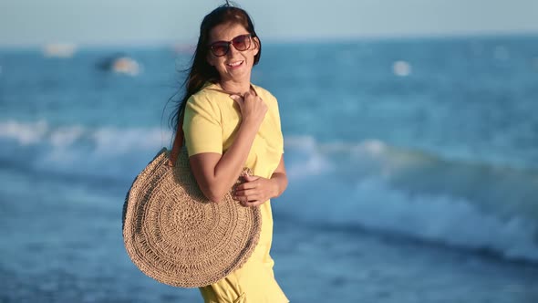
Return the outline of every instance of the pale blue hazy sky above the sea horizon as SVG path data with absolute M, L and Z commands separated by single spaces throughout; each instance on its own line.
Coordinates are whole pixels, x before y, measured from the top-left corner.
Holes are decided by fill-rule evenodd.
M 0 0 L 0 47 L 195 43 L 222 0 Z M 238 0 L 264 41 L 538 35 L 538 0 Z

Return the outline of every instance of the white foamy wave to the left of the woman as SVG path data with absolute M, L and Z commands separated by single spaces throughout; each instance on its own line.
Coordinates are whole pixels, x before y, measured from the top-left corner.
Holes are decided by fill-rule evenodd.
M 168 145 L 169 138 L 170 131 L 159 129 L 7 121 L 0 123 L 0 158 L 37 171 L 132 179 L 155 152 Z

